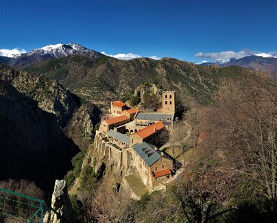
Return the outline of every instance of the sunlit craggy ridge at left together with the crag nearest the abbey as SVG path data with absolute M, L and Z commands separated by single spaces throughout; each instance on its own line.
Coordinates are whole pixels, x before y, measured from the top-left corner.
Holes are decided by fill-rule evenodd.
M 17 90 L 38 102 L 41 109 L 56 115 L 65 134 L 80 149 L 88 148 L 101 113 L 94 104 L 81 106 L 80 98 L 64 89 L 56 80 L 26 71 L 15 71 L 1 63 L 0 80 L 10 82 Z

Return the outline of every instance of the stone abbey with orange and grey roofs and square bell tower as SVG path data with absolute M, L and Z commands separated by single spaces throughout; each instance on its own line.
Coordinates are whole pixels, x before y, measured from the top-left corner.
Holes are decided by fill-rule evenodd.
M 153 191 L 176 172 L 174 160 L 160 148 L 169 140 L 175 115 L 175 91 L 162 92 L 162 108 L 143 113 L 124 102 L 111 102 L 95 136 L 97 152 L 116 159 L 126 172 L 136 169 L 145 187 Z

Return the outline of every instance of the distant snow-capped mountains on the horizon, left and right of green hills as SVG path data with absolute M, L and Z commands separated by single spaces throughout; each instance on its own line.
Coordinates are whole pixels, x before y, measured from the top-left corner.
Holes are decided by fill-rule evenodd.
M 36 64 L 43 60 L 53 58 L 64 58 L 67 56 L 82 55 L 88 58 L 101 58 L 105 57 L 104 54 L 98 51 L 88 49 L 82 45 L 75 43 L 56 45 L 47 45 L 38 49 L 33 49 L 25 54 L 14 55 L 12 57 L 0 56 L 0 62 L 8 64 L 12 67 L 21 68 L 24 66 Z M 263 56 L 245 56 L 242 58 L 230 58 L 228 60 L 214 60 L 210 62 L 203 62 L 200 65 L 219 65 L 220 67 L 228 67 L 231 65 L 246 67 L 263 71 L 269 76 L 276 78 L 277 76 L 277 58 L 268 58 Z

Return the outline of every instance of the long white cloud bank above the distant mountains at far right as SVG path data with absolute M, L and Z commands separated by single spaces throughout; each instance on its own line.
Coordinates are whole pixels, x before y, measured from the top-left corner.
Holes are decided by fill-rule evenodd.
M 263 56 L 263 57 L 275 57 L 277 58 L 277 51 L 272 52 L 261 52 L 261 51 L 253 51 L 250 49 L 242 49 L 241 51 L 235 52 L 235 51 L 220 51 L 220 52 L 209 52 L 209 53 L 202 53 L 199 52 L 195 54 L 194 56 L 200 57 L 200 58 L 210 58 L 210 59 L 230 59 L 230 58 L 241 58 L 244 56 Z

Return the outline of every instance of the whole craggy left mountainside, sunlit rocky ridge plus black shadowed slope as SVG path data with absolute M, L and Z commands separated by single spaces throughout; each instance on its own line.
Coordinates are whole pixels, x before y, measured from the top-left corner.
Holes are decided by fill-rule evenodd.
M 99 114 L 56 81 L 0 63 L 0 180 L 32 180 L 51 191 L 88 147 Z

